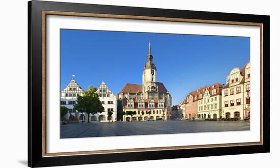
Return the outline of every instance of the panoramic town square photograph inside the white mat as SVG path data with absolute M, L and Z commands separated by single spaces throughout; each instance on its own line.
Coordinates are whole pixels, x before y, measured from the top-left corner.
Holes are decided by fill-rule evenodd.
M 60 30 L 60 138 L 250 130 L 250 38 Z

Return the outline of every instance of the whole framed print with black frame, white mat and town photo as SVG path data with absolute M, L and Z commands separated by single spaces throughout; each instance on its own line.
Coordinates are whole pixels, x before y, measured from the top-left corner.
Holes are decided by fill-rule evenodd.
M 30 167 L 269 152 L 269 16 L 28 7 Z

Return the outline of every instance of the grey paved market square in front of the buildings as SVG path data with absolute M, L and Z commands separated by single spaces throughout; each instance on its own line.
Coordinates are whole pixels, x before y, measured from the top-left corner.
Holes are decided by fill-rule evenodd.
M 61 125 L 61 138 L 151 135 L 172 133 L 247 131 L 244 121 L 142 121 L 142 122 L 91 122 Z

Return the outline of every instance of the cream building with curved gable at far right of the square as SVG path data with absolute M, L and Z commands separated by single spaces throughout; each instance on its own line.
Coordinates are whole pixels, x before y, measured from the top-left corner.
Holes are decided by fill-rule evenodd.
M 222 118 L 250 118 L 250 62 L 234 68 L 222 89 Z

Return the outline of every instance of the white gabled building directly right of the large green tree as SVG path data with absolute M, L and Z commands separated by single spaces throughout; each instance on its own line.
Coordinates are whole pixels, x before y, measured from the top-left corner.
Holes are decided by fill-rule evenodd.
M 104 111 L 102 113 L 97 113 L 94 115 L 90 115 L 91 122 L 109 122 L 117 120 L 117 97 L 113 92 L 109 90 L 109 88 L 105 85 L 105 82 L 102 81 L 101 85 L 97 88 L 96 91 L 99 94 L 99 100 L 102 102 L 104 107 Z M 112 112 L 111 119 L 108 117 L 108 112 Z M 86 116 L 87 118 L 87 116 Z

